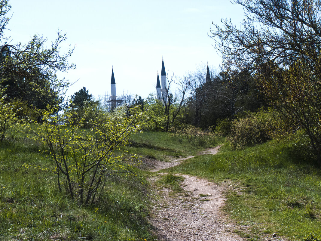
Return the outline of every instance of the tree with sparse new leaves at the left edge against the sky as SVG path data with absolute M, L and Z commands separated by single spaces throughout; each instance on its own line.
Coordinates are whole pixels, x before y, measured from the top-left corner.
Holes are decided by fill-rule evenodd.
M 56 104 L 60 91 L 69 85 L 56 74 L 75 67 L 67 61 L 74 49 L 60 51 L 66 33 L 59 30 L 49 48 L 47 38 L 42 35 L 34 35 L 26 44 L 12 44 L 4 33 L 11 18 L 10 9 L 7 0 L 0 0 L 0 79 L 2 88 L 6 87 L 6 101 L 20 100 L 44 109 L 48 104 Z

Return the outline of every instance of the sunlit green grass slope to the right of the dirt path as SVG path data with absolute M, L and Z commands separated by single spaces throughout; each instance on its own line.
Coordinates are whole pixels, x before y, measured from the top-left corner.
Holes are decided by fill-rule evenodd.
M 258 233 L 302 240 L 321 233 L 321 172 L 303 149 L 269 142 L 244 150 L 228 146 L 217 155 L 197 156 L 167 171 L 232 180 L 224 210 Z

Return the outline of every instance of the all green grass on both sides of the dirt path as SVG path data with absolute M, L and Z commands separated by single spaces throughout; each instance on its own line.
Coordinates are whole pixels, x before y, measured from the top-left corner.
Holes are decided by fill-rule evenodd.
M 212 143 L 177 138 L 169 133 L 146 132 L 130 137 L 124 151 L 140 159 L 167 161 L 196 155 Z M 81 206 L 59 192 L 56 176 L 45 168 L 54 165 L 39 154 L 36 143 L 21 134 L 0 144 L 0 240 L 154 240 L 148 223 L 153 194 L 139 168 L 136 175 L 108 179 L 100 202 Z M 229 183 L 224 211 L 247 231 L 235 233 L 248 240 L 263 235 L 313 240 L 321 233 L 321 171 L 302 147 L 290 142 L 270 141 L 243 150 L 224 144 L 217 155 L 185 160 L 166 170 L 159 182 L 180 190 L 172 174 L 182 173 Z M 24 165 L 27 164 L 27 165 Z M 28 165 L 37 166 L 28 167 Z M 310 236 L 312 237 L 312 236 Z M 317 239 L 316 239 L 317 240 Z

